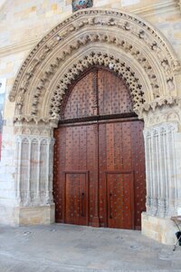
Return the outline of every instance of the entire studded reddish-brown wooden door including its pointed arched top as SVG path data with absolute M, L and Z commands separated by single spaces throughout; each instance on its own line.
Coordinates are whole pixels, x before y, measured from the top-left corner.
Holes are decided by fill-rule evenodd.
M 117 74 L 97 66 L 71 84 L 54 131 L 57 222 L 140 228 L 146 202 L 142 131 Z

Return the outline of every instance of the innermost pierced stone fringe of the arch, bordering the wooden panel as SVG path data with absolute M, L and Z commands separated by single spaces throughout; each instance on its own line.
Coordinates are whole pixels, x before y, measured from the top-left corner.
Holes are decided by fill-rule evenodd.
M 52 92 L 50 108 L 51 116 L 54 116 L 55 114 L 58 115 L 60 112 L 63 94 L 68 89 L 71 81 L 75 80 L 81 72 L 94 64 L 109 67 L 110 70 L 119 74 L 123 81 L 129 86 L 134 103 L 134 109 L 137 109 L 139 105 L 145 101 L 144 92 L 142 90 L 141 83 L 139 83 L 138 77 L 136 77 L 136 74 L 133 73 L 125 63 L 121 63 L 119 59 L 115 59 L 112 55 L 108 55 L 107 53 L 90 53 L 69 68 L 69 71 L 63 75 L 60 83 L 58 83 L 54 92 Z M 43 90 L 41 92 L 43 92 Z M 37 113 L 38 97 L 41 95 L 41 92 L 40 87 L 38 87 L 37 91 L 34 93 L 32 107 L 33 115 Z

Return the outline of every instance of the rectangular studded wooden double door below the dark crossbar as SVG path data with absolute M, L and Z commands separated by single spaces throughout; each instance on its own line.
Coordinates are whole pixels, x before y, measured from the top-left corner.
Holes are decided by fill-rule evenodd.
M 79 91 L 81 83 L 73 90 Z M 70 101 L 72 105 L 71 97 L 67 102 L 69 118 L 73 115 Z M 141 212 L 145 210 L 143 123 L 136 117 L 107 117 L 65 121 L 54 131 L 57 222 L 140 228 Z

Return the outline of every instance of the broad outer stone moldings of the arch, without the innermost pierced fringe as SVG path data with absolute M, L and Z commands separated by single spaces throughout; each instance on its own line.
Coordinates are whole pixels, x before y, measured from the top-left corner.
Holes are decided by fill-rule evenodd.
M 92 34 L 95 33 L 95 29 L 96 34 Z M 38 92 L 41 92 L 47 81 L 50 83 L 53 75 L 62 69 L 64 60 L 67 61 L 70 56 L 77 54 L 76 52 L 81 50 L 81 47 L 89 45 L 93 49 L 100 44 L 103 47 L 104 44 L 109 44 L 110 51 L 111 46 L 120 48 L 121 51 L 129 54 L 135 65 L 142 67 L 148 74 L 148 92 L 152 93 L 153 99 L 165 95 L 176 95 L 175 74 L 180 73 L 180 63 L 176 60 L 176 54 L 165 37 L 138 16 L 112 10 L 89 9 L 75 13 L 54 27 L 26 58 L 9 95 L 10 101 L 16 100 L 16 114 L 31 115 L 33 112 L 39 118 L 53 117 L 51 114 L 43 116 L 43 112 L 37 112 Z M 129 64 L 126 63 L 126 66 L 128 67 Z M 40 75 L 40 71 L 43 75 Z M 60 81 L 65 80 L 63 76 Z M 68 78 L 67 83 L 69 81 Z M 26 94 L 34 90 L 33 100 L 29 101 Z M 49 92 L 54 93 L 55 90 L 52 89 Z M 139 96 L 138 100 L 141 101 L 141 99 L 142 97 Z M 145 102 L 150 102 L 148 97 L 144 97 Z M 30 103 L 33 106 L 28 112 L 24 108 Z M 49 106 L 54 107 L 52 102 Z M 53 111 L 50 109 L 50 112 L 57 114 L 57 109 L 56 111 L 54 108 Z

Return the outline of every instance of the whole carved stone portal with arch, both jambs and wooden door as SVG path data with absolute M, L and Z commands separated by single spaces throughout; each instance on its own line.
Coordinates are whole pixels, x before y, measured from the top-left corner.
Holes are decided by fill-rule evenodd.
M 115 142 L 116 147 L 125 148 L 127 146 L 124 141 L 121 144 L 119 142 L 122 135 L 126 135 L 125 133 L 119 130 L 118 133 L 114 134 L 114 129 L 107 133 L 106 129 L 110 124 L 112 126 L 117 126 L 117 123 L 124 124 L 126 117 L 130 118 L 132 116 L 132 119 L 128 121 L 131 138 L 125 137 L 131 139 L 130 142 L 134 143 L 131 145 L 133 146 L 133 149 L 131 148 L 131 156 L 133 154 L 131 158 L 134 158 L 131 160 L 131 166 L 134 166 L 131 171 L 135 174 L 140 171 L 141 166 L 137 165 L 139 160 L 137 156 L 139 156 L 139 152 L 141 153 L 141 149 L 139 142 L 135 141 L 141 139 L 142 132 L 138 134 L 138 137 L 134 136 L 133 131 L 137 130 L 133 129 L 133 124 L 137 124 L 137 116 L 134 116 L 130 108 L 126 108 L 126 112 L 120 109 L 117 104 L 118 98 L 114 98 L 114 107 L 109 106 L 107 108 L 111 101 L 108 96 L 103 112 L 98 112 L 98 114 L 96 113 L 98 111 L 96 105 L 99 102 L 99 97 L 92 95 L 91 104 L 81 104 L 82 108 L 84 108 L 82 111 L 77 106 L 80 102 L 75 103 L 75 112 L 78 115 L 73 116 L 71 114 L 71 117 L 66 115 L 67 117 L 63 119 L 63 112 L 66 112 L 66 105 L 69 104 L 65 98 L 69 97 L 67 94 L 70 92 L 70 85 L 73 84 L 75 79 L 78 81 L 80 74 L 88 67 L 92 67 L 92 65 L 101 65 L 114 71 L 114 73 L 118 73 L 124 83 L 129 86 L 133 112 L 138 114 L 139 119 L 144 120 L 147 212 L 142 213 L 142 232 L 150 238 L 170 243 L 175 238 L 175 227 L 173 222 L 170 221 L 170 217 L 177 213 L 181 199 L 179 190 L 180 150 L 178 148 L 180 146 L 180 138 L 178 138 L 178 135 L 180 135 L 180 62 L 177 60 L 176 53 L 174 53 L 167 39 L 153 25 L 148 24 L 143 18 L 136 15 L 119 13 L 115 10 L 93 8 L 71 15 L 45 35 L 22 64 L 15 78 L 14 87 L 9 94 L 10 101 L 14 102 L 15 154 L 15 168 L 10 175 L 10 180 L 14 177 L 14 186 L 11 186 L 13 189 L 12 195 L 14 196 L 14 204 L 10 209 L 11 215 L 13 214 L 14 221 L 21 225 L 24 225 L 24 223 L 49 224 L 53 222 L 53 176 L 56 214 L 62 213 L 59 221 L 66 221 L 65 211 L 68 209 L 63 208 L 65 207 L 64 204 L 68 202 L 65 201 L 65 194 L 59 194 L 59 189 L 55 190 L 63 182 L 58 182 L 59 171 L 54 171 L 54 175 L 52 173 L 53 130 L 57 128 L 59 121 L 60 125 L 62 122 L 64 130 L 68 130 L 67 128 L 70 127 L 73 129 L 76 122 L 77 126 L 82 124 L 85 129 L 90 125 L 89 121 L 92 121 L 91 124 L 94 124 L 94 127 L 97 126 L 97 131 L 99 131 L 98 133 L 96 129 L 94 130 L 97 135 L 95 136 L 95 146 L 97 147 L 96 160 L 98 160 L 99 166 L 96 175 L 99 179 L 97 181 L 93 180 L 93 183 L 90 182 L 90 185 L 86 187 L 90 189 L 89 201 L 87 200 L 86 203 L 87 205 L 90 205 L 91 201 L 93 203 L 87 209 L 89 212 L 86 213 L 86 224 L 110 226 L 108 216 L 110 215 L 109 212 L 114 210 L 112 209 L 114 207 L 111 206 L 113 201 L 108 198 L 111 191 L 109 186 L 105 191 L 105 184 L 109 184 L 110 175 L 112 174 L 109 171 L 115 172 L 116 169 L 122 171 L 126 170 L 126 168 L 122 169 L 119 165 L 114 168 L 113 165 L 112 169 L 107 170 L 102 164 L 102 171 L 104 172 L 102 174 L 102 177 L 104 177 L 103 187 L 100 181 L 100 162 L 103 162 L 104 158 L 101 160 L 99 153 L 106 154 L 105 160 L 108 160 L 106 151 L 110 150 L 115 142 L 113 137 L 110 137 L 111 135 L 119 135 L 118 141 Z M 115 82 L 114 78 L 112 86 L 115 85 Z M 85 85 L 85 83 L 83 84 Z M 96 89 L 97 84 L 98 81 L 91 84 L 93 90 Z M 106 86 L 110 85 L 106 84 Z M 88 101 L 90 102 L 90 100 Z M 129 100 L 123 101 L 128 102 Z M 63 107 L 65 107 L 64 110 Z M 118 112 L 111 112 L 112 108 L 119 110 Z M 94 109 L 94 112 L 92 112 L 92 109 Z M 80 113 L 81 116 L 79 116 Z M 83 115 L 84 113 L 87 115 Z M 87 118 L 87 120 L 83 120 L 83 118 Z M 78 122 L 78 119 L 80 122 Z M 67 122 L 66 125 L 65 122 Z M 62 128 L 60 126 L 60 130 Z M 104 128 L 104 133 L 102 132 L 104 141 L 100 138 L 101 128 Z M 82 135 L 81 132 L 79 133 Z M 66 133 L 64 136 L 66 136 Z M 56 145 L 58 141 L 64 141 L 64 143 L 62 147 L 57 147 L 55 152 L 63 151 L 63 148 L 66 148 L 66 143 L 69 143 L 64 136 L 63 133 L 57 136 Z M 107 138 L 109 139 L 108 142 L 110 142 L 109 146 L 105 145 L 105 142 L 107 142 L 105 139 Z M 103 144 L 106 148 L 104 151 L 100 151 Z M 114 152 L 120 151 L 120 148 L 112 148 L 112 150 Z M 108 152 L 113 154 L 109 157 L 110 161 L 115 157 L 114 152 Z M 60 168 L 63 165 L 66 166 L 67 163 L 66 158 L 64 164 L 56 162 L 56 160 L 61 160 L 62 153 L 58 157 L 55 154 L 54 160 L 54 165 Z M 68 154 L 68 152 L 65 151 L 64 154 Z M 71 176 L 71 174 L 67 174 L 67 171 L 71 171 L 71 168 L 62 169 L 62 173 L 66 174 L 66 179 Z M 84 180 L 90 179 L 87 178 L 90 177 L 90 170 L 87 170 L 87 168 L 82 170 L 81 167 L 77 167 L 77 171 L 79 172 L 76 174 L 83 171 L 80 176 L 84 177 Z M 85 172 L 88 173 L 88 171 L 89 175 L 86 175 Z M 107 181 L 105 181 L 106 174 Z M 138 228 L 140 226 L 140 213 L 143 209 L 139 207 L 142 206 L 142 203 L 145 206 L 145 197 L 142 198 L 140 194 L 140 177 L 137 178 L 135 175 L 133 177 L 134 188 L 132 187 L 132 191 L 134 193 L 131 195 L 134 198 L 129 199 L 129 203 L 132 203 L 131 211 L 134 210 L 134 214 L 129 213 L 131 219 L 129 220 L 129 227 L 126 226 L 127 228 L 130 228 L 130 226 L 131 228 Z M 71 178 L 69 179 L 71 180 Z M 85 181 L 85 184 L 88 184 L 88 181 Z M 67 187 L 69 188 L 66 185 Z M 84 191 L 82 192 L 84 193 Z M 60 202 L 57 202 L 59 199 Z M 85 195 L 83 195 L 83 199 L 85 199 Z M 112 199 L 112 196 L 110 196 L 110 199 Z M 141 203 L 139 200 L 141 200 Z M 123 200 L 121 201 L 120 203 L 124 204 Z M 125 207 L 125 205 L 123 206 Z M 5 220 L 12 224 L 11 217 L 6 218 L 5 213 Z M 85 222 L 81 224 L 85 224 Z M 115 226 L 115 224 L 113 227 L 118 226 Z M 121 227 L 121 224 L 118 227 Z M 160 228 L 157 228 L 157 226 Z M 126 227 L 123 226 L 123 228 Z

